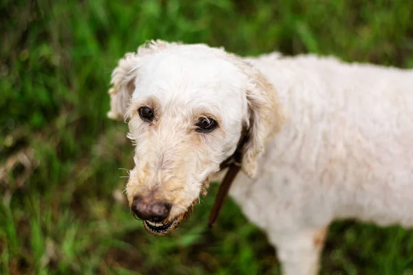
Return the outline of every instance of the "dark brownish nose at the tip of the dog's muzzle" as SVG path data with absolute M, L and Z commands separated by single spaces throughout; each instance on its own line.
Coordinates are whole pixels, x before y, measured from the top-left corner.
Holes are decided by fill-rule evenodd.
M 171 204 L 136 196 L 134 197 L 131 210 L 134 211 L 139 219 L 160 222 L 167 219 L 169 211 L 171 211 Z

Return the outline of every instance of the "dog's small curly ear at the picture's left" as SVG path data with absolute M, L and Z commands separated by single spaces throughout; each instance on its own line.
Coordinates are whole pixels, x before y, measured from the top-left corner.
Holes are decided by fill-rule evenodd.
M 138 68 L 142 56 L 153 54 L 164 50 L 171 45 L 180 43 L 167 43 L 165 41 L 150 41 L 138 48 L 138 51 L 125 54 L 118 62 L 118 67 L 112 72 L 111 84 L 109 89 L 110 110 L 108 118 L 113 120 L 123 120 L 127 107 L 129 107 L 131 96 L 135 91 L 135 81 L 138 76 Z

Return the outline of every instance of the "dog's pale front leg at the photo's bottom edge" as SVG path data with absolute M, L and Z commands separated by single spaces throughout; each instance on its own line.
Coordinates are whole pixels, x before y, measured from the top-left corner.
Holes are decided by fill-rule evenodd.
M 315 275 L 328 226 L 297 232 L 269 232 L 284 275 Z

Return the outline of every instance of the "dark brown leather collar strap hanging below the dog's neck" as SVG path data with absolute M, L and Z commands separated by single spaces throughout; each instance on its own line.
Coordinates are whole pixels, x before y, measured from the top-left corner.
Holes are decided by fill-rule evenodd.
M 248 134 L 246 129 L 242 130 L 240 141 L 238 142 L 237 148 L 231 157 L 227 158 L 220 164 L 220 170 L 228 168 L 225 177 L 220 184 L 218 193 L 215 197 L 211 212 L 209 213 L 208 226 L 211 228 L 215 222 L 218 220 L 222 206 L 224 206 L 224 201 L 228 195 L 229 188 L 233 183 L 235 176 L 241 169 L 242 153 L 244 151 L 244 145 L 248 141 Z

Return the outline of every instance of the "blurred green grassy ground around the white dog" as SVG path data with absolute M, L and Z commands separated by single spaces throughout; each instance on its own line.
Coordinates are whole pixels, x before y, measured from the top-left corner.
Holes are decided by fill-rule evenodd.
M 158 238 L 131 217 L 127 127 L 105 118 L 118 58 L 148 39 L 413 67 L 413 1 L 1 0 L 0 274 L 278 274 L 232 201 Z M 323 274 L 413 274 L 413 233 L 335 223 Z

